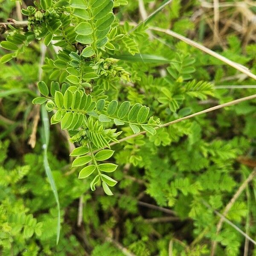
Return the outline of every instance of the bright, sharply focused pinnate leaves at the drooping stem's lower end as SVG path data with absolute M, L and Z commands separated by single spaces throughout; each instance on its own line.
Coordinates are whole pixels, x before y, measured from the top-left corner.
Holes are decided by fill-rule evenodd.
M 52 82 L 49 91 L 45 82 L 40 81 L 38 89 L 43 96 L 35 98 L 33 103 L 44 104 L 47 102 L 47 111 L 55 111 L 51 123 L 61 122 L 61 129 L 67 129 L 73 135 L 71 141 L 82 145 L 74 149 L 71 154 L 78 157 L 72 166 L 78 167 L 93 163 L 81 169 L 79 178 L 86 178 L 97 170 L 98 175 L 93 179 L 91 189 L 95 190 L 96 184 L 101 180 L 105 193 L 113 195 L 108 186 L 114 186 L 117 182 L 102 172 L 113 172 L 117 165 L 113 163 L 98 164 L 98 161 L 110 158 L 113 151 L 103 149 L 96 154 L 93 151 L 105 147 L 110 148 L 111 141 L 118 143 L 116 137 L 121 132 L 115 133 L 116 129 L 106 129 L 104 124 L 109 122 L 114 122 L 115 125 L 128 124 L 134 134 L 139 133 L 142 128 L 154 135 L 156 133 L 154 127 L 159 124 L 160 120 L 155 121 L 152 116 L 148 119 L 149 108 L 139 103 L 131 107 L 131 103 L 128 101 L 122 102 L 120 105 L 116 100 L 106 102 L 105 99 L 99 99 L 95 102 L 90 94 L 87 95 L 84 90 L 79 89 L 79 85 L 62 84 L 60 89 L 58 82 Z M 85 155 L 87 153 L 90 154 Z

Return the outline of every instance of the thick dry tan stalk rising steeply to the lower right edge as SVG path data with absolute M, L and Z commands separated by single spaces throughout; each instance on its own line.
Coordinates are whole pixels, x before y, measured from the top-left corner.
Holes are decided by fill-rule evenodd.
M 227 204 L 227 206 L 224 209 L 224 212 L 221 216 L 220 221 L 217 224 L 217 231 L 216 231 L 216 236 L 218 236 L 218 233 L 221 230 L 221 227 L 223 225 L 224 222 L 224 218 L 226 217 L 227 213 L 229 212 L 229 210 L 231 209 L 231 207 L 233 206 L 233 204 L 235 203 L 235 201 L 237 200 L 237 198 L 239 198 L 239 196 L 241 195 L 241 193 L 244 191 L 244 189 L 246 188 L 247 184 L 250 183 L 251 180 L 253 180 L 253 178 L 256 176 L 256 168 L 253 169 L 253 172 L 250 173 L 250 175 L 247 177 L 246 180 L 244 180 L 244 182 L 241 184 L 241 186 L 239 187 L 239 189 L 237 190 L 237 192 L 233 195 L 233 198 L 231 198 L 231 200 L 229 201 L 229 203 Z M 244 233 L 245 234 L 245 233 Z M 247 234 L 245 234 L 246 237 L 248 238 L 249 236 L 247 236 Z M 249 238 L 248 238 L 249 239 Z M 251 241 L 251 239 L 249 239 Z M 253 240 L 253 243 L 256 244 L 256 242 Z M 213 241 L 212 242 L 212 248 L 211 248 L 211 256 L 214 256 L 215 254 L 215 249 L 217 246 L 217 241 Z

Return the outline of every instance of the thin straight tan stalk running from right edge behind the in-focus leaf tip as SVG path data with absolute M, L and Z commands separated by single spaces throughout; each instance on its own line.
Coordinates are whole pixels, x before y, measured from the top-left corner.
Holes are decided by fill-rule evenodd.
M 226 103 L 223 103 L 223 104 L 221 104 L 221 105 L 214 106 L 214 107 L 212 107 L 212 108 L 207 108 L 207 109 L 205 109 L 205 110 L 203 110 L 203 111 L 199 111 L 199 112 L 194 113 L 194 114 L 189 115 L 189 116 L 184 116 L 184 117 L 179 118 L 179 119 L 176 119 L 176 120 L 174 120 L 174 121 L 167 122 L 167 123 L 165 123 L 165 124 L 163 124 L 163 125 L 159 125 L 158 127 L 156 127 L 156 129 L 163 128 L 163 127 L 166 127 L 166 126 L 169 126 L 169 125 L 173 125 L 173 124 L 175 124 L 175 123 L 177 123 L 177 122 L 181 122 L 181 121 L 183 121 L 183 120 L 192 118 L 192 117 L 194 117 L 194 116 L 199 116 L 199 115 L 201 115 L 201 114 L 204 114 L 204 113 L 207 113 L 207 112 L 211 112 L 211 111 L 214 111 L 214 110 L 217 110 L 217 109 L 220 109 L 220 108 L 225 108 L 225 107 L 228 107 L 228 106 L 231 106 L 231 105 L 236 105 L 236 104 L 238 104 L 238 103 L 240 103 L 240 102 L 244 102 L 244 101 L 247 101 L 247 100 L 250 100 L 250 99 L 256 99 L 256 94 L 253 94 L 253 95 L 250 95 L 250 96 L 241 98 L 241 99 L 236 99 L 236 100 L 233 100 L 233 101 L 230 101 L 230 102 L 226 102 Z M 128 137 L 125 137 L 125 138 L 120 139 L 120 140 L 118 141 L 118 143 L 123 142 L 123 141 L 125 141 L 125 140 L 133 139 L 134 137 L 137 137 L 137 136 L 139 136 L 139 135 L 141 135 L 141 134 L 145 134 L 145 133 L 146 133 L 146 131 L 141 131 L 141 132 L 139 132 L 139 133 L 137 133 L 137 134 L 132 134 L 132 135 L 130 135 L 130 136 L 128 136 Z M 117 142 L 112 142 L 112 143 L 110 143 L 109 145 L 110 145 L 110 146 L 111 146 L 111 145 L 115 145 L 116 143 L 117 143 Z

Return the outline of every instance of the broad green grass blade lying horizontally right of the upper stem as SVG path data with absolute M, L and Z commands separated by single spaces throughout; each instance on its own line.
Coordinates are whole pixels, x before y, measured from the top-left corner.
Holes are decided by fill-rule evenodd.
M 122 54 L 122 55 L 111 55 L 112 58 L 116 58 L 123 61 L 132 61 L 132 62 L 145 62 L 145 63 L 170 63 L 174 60 L 166 59 L 162 56 L 149 55 L 149 54 Z M 177 61 L 176 61 L 177 62 Z

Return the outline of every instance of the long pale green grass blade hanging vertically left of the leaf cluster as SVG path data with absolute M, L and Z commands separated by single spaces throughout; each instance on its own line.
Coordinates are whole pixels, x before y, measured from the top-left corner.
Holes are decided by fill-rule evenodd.
M 56 238 L 56 244 L 58 244 L 58 241 L 60 239 L 60 232 L 61 232 L 61 210 L 60 210 L 60 202 L 58 199 L 57 187 L 56 187 L 54 178 L 52 176 L 52 170 L 49 166 L 49 162 L 47 158 L 47 147 L 49 144 L 50 133 L 49 133 L 49 118 L 48 118 L 47 111 L 45 110 L 45 105 L 41 106 L 41 117 L 43 122 L 42 140 L 43 140 L 43 150 L 44 150 L 44 169 L 49 179 L 49 183 L 50 183 L 50 186 L 57 204 L 57 210 L 58 210 L 57 238 Z

